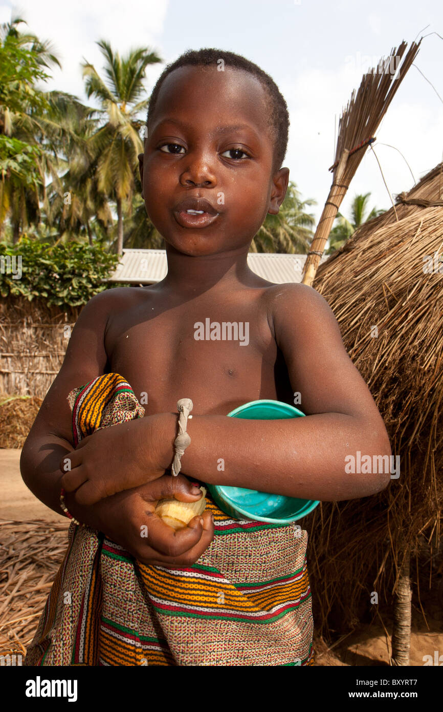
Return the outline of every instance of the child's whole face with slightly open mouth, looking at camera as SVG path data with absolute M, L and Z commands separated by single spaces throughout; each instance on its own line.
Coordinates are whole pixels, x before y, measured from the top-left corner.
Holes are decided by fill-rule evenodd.
M 266 107 L 260 82 L 229 66 L 185 66 L 164 80 L 139 164 L 146 211 L 179 252 L 247 247 L 267 213 L 278 213 L 289 170 L 272 174 Z M 188 199 L 210 205 L 181 205 Z

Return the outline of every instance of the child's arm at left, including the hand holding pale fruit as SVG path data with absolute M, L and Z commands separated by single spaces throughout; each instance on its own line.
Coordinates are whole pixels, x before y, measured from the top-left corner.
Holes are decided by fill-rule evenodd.
M 60 516 L 63 478 L 60 460 L 74 451 L 68 393 L 105 372 L 105 330 L 108 314 L 116 308 L 116 296 L 102 292 L 83 308 L 60 372 L 41 404 L 21 452 L 23 481 L 38 499 Z M 112 444 L 107 451 L 108 463 L 110 456 L 114 456 Z M 80 522 L 104 531 L 142 562 L 161 562 L 161 565 L 194 563 L 213 538 L 210 511 L 203 515 L 203 525 L 199 518 L 193 518 L 188 527 L 175 532 L 154 515 L 156 501 L 163 497 L 190 502 L 198 500 L 201 493 L 192 493 L 191 483 L 184 477 L 166 476 L 136 490 L 102 499 L 92 506 L 78 503 L 75 496 L 68 493 L 66 504 Z M 141 538 L 142 525 L 149 529 L 149 540 Z

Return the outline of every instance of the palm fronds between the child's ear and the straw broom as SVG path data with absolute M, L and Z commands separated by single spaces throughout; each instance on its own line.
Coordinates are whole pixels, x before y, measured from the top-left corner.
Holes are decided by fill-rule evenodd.
M 282 252 L 305 254 L 309 251 L 315 218 L 306 207 L 316 201 L 302 201 L 297 185 L 289 181 L 287 193 L 277 215 L 268 214 L 252 240 L 251 252 Z

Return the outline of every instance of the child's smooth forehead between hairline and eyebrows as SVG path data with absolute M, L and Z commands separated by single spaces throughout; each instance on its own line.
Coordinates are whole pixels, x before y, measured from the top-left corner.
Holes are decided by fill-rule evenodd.
M 213 125 L 242 124 L 261 138 L 272 140 L 269 130 L 269 97 L 255 76 L 226 66 L 184 66 L 164 80 L 156 100 L 150 128 L 168 119 Z

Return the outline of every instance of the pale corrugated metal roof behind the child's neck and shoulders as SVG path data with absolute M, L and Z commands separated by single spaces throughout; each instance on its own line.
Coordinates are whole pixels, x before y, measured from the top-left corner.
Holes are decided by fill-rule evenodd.
M 323 256 L 321 262 L 327 257 Z M 284 255 L 269 252 L 250 252 L 247 264 L 259 277 L 275 284 L 301 282 L 306 255 Z M 154 284 L 168 271 L 165 250 L 123 250 L 122 259 L 110 276 L 110 282 Z

